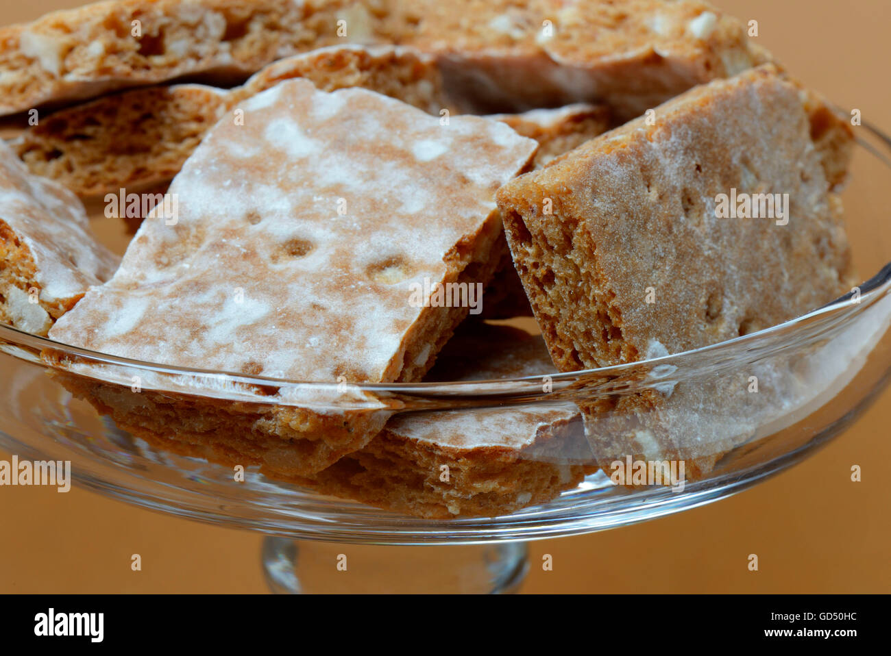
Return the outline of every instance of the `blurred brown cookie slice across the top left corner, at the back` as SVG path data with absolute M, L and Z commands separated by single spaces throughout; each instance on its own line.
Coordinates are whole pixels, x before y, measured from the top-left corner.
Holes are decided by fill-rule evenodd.
M 185 76 L 231 83 L 323 45 L 388 42 L 389 4 L 114 0 L 49 13 L 0 29 L 0 115 Z

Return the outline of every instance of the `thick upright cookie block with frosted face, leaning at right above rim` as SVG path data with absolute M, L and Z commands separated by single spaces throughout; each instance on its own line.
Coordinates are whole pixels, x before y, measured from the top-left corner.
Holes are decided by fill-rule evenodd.
M 505 185 L 507 239 L 555 365 L 715 344 L 850 289 L 836 191 L 851 142 L 842 117 L 767 65 Z M 620 402 L 649 413 L 664 397 Z

